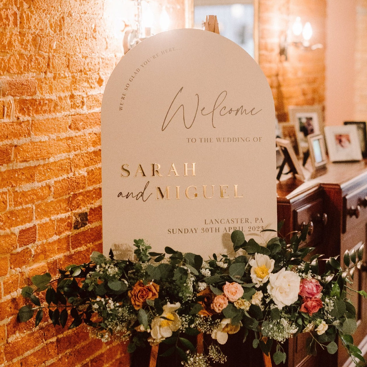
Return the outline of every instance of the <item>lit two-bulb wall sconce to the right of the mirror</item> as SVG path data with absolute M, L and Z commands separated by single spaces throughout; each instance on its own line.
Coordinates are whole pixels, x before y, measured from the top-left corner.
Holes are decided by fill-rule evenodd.
M 302 26 L 301 18 L 297 17 L 292 25 L 291 29 L 287 30 L 284 37 L 280 39 L 279 54 L 285 56 L 288 60 L 288 47 L 295 46 L 304 50 L 316 50 L 317 48 L 323 48 L 321 43 L 311 45 L 310 39 L 312 37 L 312 26 L 310 22 L 306 22 Z

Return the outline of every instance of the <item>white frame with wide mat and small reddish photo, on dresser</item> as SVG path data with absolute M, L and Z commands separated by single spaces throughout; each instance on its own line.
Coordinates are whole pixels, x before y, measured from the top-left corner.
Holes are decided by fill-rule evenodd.
M 325 138 L 329 158 L 332 162 L 360 161 L 362 159 L 355 124 L 326 126 Z

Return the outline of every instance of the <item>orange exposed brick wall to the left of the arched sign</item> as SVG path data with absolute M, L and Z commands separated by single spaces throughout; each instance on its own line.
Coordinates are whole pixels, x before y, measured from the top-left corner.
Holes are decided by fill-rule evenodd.
M 183 0 L 150 3 L 184 27 Z M 0 366 L 128 365 L 126 346 L 86 327 L 34 328 L 16 314 L 31 276 L 102 251 L 100 107 L 131 6 L 0 0 Z

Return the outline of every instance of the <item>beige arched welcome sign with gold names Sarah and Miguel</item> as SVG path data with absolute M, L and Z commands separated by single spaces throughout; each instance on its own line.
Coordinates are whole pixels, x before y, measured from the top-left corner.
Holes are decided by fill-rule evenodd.
M 143 238 L 208 257 L 276 229 L 275 110 L 257 63 L 212 32 L 159 33 L 102 101 L 103 249 Z M 271 235 L 273 236 L 273 235 Z

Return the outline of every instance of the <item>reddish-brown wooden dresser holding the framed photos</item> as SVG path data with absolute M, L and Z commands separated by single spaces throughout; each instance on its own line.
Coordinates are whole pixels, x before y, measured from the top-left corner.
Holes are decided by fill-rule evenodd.
M 309 224 L 308 242 L 327 257 L 343 255 L 358 248 L 367 238 L 367 160 L 356 163 L 330 163 L 318 177 L 300 182 L 288 178 L 277 185 L 278 221 L 285 219 L 283 233 L 300 230 Z M 356 270 L 354 286 L 367 289 L 366 258 Z M 355 344 L 367 355 L 367 300 L 354 297 L 358 316 Z M 352 367 L 344 347 L 335 355 L 306 352 L 306 335 L 291 339 L 288 367 Z

